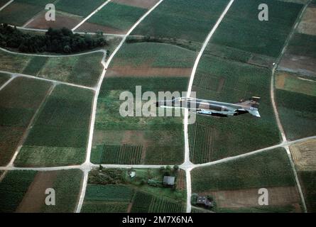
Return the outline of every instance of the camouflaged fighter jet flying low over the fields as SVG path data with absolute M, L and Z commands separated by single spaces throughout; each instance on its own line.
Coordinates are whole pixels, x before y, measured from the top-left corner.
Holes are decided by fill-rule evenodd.
M 207 116 L 228 117 L 249 113 L 260 118 L 258 111 L 258 101 L 260 99 L 261 98 L 254 96 L 251 99 L 240 100 L 235 104 L 229 104 L 225 102 L 204 99 L 177 98 L 169 101 L 158 101 L 156 106 L 162 108 L 187 108 L 191 112 Z

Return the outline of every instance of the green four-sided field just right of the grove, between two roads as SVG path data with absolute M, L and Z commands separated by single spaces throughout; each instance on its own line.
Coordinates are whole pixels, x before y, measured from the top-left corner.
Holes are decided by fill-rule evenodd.
M 104 33 L 124 34 L 141 18 L 147 9 L 109 2 L 84 23 L 78 31 L 99 28 Z

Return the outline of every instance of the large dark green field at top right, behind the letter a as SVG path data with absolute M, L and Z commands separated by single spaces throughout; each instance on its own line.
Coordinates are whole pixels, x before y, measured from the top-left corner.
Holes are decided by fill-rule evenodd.
M 278 57 L 303 5 L 267 0 L 264 3 L 271 6 L 268 21 L 259 21 L 258 6 L 261 3 L 261 0 L 234 1 L 211 42 Z

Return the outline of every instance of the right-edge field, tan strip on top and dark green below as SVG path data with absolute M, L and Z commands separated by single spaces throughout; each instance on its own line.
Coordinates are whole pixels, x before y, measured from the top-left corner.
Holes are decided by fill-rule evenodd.
M 289 76 L 282 79 L 283 74 Z M 289 140 L 315 135 L 315 89 L 316 82 L 310 77 L 282 72 L 276 75 L 276 104 Z

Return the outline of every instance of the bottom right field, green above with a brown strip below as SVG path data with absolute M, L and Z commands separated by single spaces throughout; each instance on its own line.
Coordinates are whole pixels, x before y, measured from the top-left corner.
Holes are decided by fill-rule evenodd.
M 301 211 L 295 177 L 283 148 L 198 167 L 191 173 L 192 192 L 213 196 L 215 211 Z M 261 188 L 268 189 L 271 198 L 264 208 L 258 206 Z

